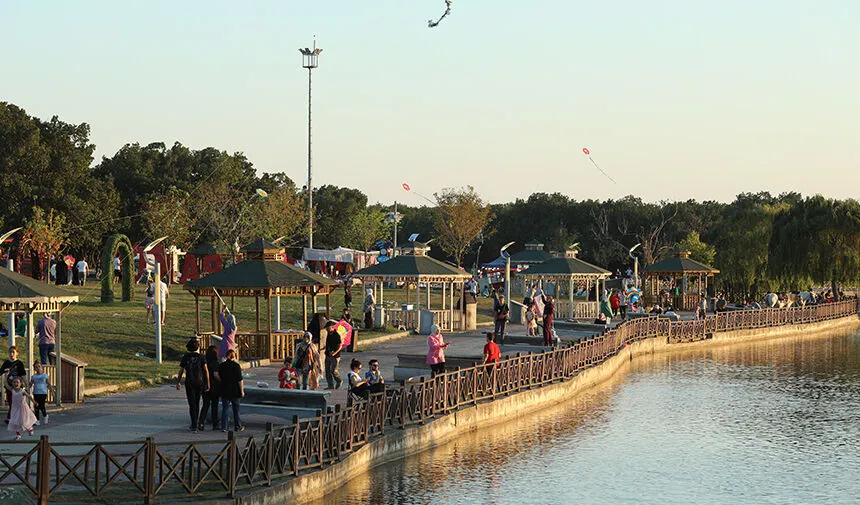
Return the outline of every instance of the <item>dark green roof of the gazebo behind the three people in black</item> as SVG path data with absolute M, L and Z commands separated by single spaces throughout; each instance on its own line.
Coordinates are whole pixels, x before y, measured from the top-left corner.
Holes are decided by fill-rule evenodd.
M 329 278 L 283 261 L 246 260 L 185 284 L 198 295 L 217 289 L 227 296 L 255 296 L 271 290 L 273 295 L 326 294 L 337 283 Z

